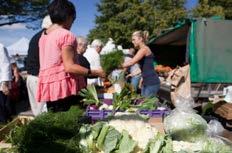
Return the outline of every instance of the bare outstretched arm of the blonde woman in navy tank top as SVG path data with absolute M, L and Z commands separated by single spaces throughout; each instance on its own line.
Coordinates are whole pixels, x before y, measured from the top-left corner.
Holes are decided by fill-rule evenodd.
M 135 63 L 138 63 L 138 61 L 140 61 L 145 55 L 146 55 L 146 50 L 140 49 L 131 60 L 123 63 L 122 67 L 127 68 L 131 65 L 134 65 Z

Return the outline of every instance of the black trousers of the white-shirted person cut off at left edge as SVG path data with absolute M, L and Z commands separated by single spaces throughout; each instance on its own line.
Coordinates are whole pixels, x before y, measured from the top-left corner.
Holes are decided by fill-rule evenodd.
M 9 96 L 0 91 L 0 122 L 6 122 L 10 118 L 10 112 Z

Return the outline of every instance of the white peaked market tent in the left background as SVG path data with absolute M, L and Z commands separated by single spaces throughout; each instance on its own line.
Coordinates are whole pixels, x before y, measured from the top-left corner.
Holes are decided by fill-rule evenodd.
M 8 53 L 10 56 L 13 55 L 27 55 L 27 50 L 29 46 L 29 40 L 25 37 L 22 37 L 14 44 L 7 47 Z

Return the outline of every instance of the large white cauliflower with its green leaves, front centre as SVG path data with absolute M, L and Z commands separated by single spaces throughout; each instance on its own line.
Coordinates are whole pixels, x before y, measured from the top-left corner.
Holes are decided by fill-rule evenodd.
M 80 148 L 84 153 L 172 152 L 170 137 L 157 132 L 135 114 L 120 114 L 108 122 L 83 125 Z

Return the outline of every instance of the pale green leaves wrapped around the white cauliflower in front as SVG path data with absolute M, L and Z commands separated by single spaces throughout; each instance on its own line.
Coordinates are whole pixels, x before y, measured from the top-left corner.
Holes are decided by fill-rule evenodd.
M 127 131 L 118 132 L 104 122 L 95 125 L 83 125 L 80 128 L 80 148 L 83 153 L 131 153 L 136 142 L 131 139 Z

